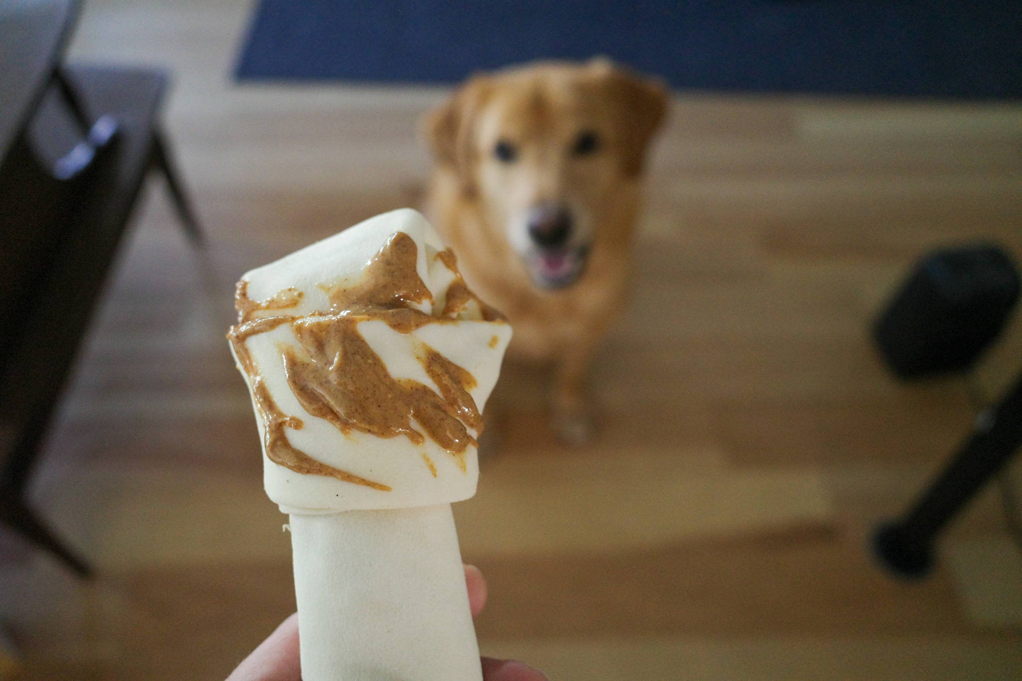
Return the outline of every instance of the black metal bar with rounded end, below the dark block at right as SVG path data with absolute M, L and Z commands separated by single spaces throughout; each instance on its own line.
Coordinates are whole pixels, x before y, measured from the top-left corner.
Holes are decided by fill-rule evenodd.
M 936 480 L 901 518 L 881 525 L 873 550 L 900 577 L 920 578 L 933 568 L 936 536 L 1000 472 L 1022 444 L 1022 375 L 1001 402 L 976 418 L 972 434 Z

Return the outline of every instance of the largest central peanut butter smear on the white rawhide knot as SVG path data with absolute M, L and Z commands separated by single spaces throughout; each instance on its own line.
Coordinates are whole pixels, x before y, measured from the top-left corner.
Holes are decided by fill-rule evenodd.
M 454 321 L 409 307 L 432 300 L 416 271 L 417 258 L 415 241 L 398 232 L 370 260 L 358 284 L 327 289 L 330 313 L 291 326 L 304 352 L 285 348 L 284 371 L 301 406 L 342 433 L 354 429 L 377 437 L 404 435 L 422 444 L 425 438 L 413 428 L 414 419 L 436 444 L 460 456 L 476 445 L 466 426 L 482 429 L 482 418 L 468 394 L 475 387 L 472 375 L 423 346 L 419 361 L 440 394 L 418 381 L 396 380 L 357 328 L 359 322 L 380 320 L 407 334 L 426 324 Z

